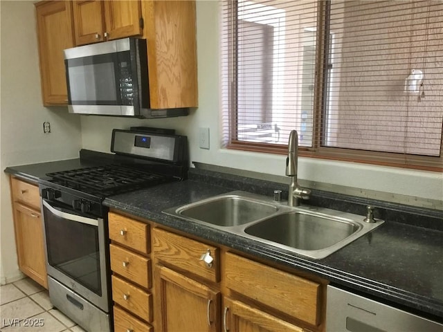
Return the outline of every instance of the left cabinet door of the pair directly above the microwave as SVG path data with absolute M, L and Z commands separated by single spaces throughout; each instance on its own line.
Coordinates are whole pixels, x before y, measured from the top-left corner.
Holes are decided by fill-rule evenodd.
M 75 44 L 102 42 L 105 32 L 103 1 L 73 1 Z

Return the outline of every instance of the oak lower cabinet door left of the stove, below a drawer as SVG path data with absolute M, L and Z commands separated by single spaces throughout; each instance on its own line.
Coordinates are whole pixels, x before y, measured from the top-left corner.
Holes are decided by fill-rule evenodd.
M 19 268 L 35 282 L 48 288 L 40 212 L 14 203 L 14 214 Z

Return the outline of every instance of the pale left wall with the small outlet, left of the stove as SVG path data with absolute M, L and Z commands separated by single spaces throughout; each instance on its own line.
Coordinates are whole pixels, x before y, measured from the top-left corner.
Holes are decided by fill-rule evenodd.
M 1 170 L 8 166 L 77 158 L 80 117 L 64 108 L 42 106 L 35 1 L 0 1 Z M 43 133 L 43 122 L 51 133 Z M 1 284 L 20 277 L 8 176 L 1 172 Z

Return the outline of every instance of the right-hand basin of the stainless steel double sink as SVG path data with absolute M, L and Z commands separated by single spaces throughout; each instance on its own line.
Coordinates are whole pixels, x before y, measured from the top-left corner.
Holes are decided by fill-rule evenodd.
M 320 250 L 350 237 L 360 225 L 305 212 L 287 212 L 247 227 L 254 237 L 301 250 Z

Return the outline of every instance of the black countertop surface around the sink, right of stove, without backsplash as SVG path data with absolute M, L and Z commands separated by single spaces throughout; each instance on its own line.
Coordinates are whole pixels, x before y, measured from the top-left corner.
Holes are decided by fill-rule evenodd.
M 373 232 L 329 257 L 314 260 L 162 213 L 174 206 L 243 190 L 210 183 L 191 179 L 159 185 L 109 197 L 105 205 L 256 257 L 314 273 L 333 284 L 443 322 L 441 230 L 386 220 Z M 248 183 L 251 185 L 250 181 Z

